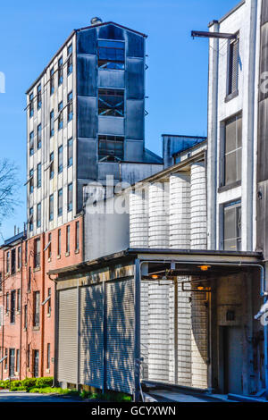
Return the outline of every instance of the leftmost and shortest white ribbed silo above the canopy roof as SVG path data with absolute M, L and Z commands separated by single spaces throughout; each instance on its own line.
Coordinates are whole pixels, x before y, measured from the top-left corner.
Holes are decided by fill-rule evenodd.
M 130 193 L 130 248 L 148 247 L 148 211 L 145 189 Z

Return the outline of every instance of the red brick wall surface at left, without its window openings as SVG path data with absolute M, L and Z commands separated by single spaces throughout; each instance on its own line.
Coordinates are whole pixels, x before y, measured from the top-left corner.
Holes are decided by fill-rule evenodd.
M 80 223 L 80 246 L 76 249 L 76 223 Z M 3 290 L 0 291 L 0 305 L 4 306 L 6 292 L 21 288 L 21 312 L 16 314 L 15 323 L 10 323 L 10 312 L 4 314 L 4 326 L 0 327 L 1 357 L 5 349 L 21 350 L 21 368 L 18 374 L 21 379 L 34 375 L 34 350 L 39 352 L 38 376 L 53 376 L 54 374 L 54 281 L 50 280 L 47 273 L 49 270 L 62 268 L 69 265 L 79 264 L 83 258 L 82 244 L 82 217 L 66 223 L 60 228 L 54 229 L 28 239 L 27 263 L 26 262 L 26 241 L 22 244 L 22 268 L 13 275 L 5 273 L 6 252 L 0 249 L 0 273 L 4 278 Z M 70 252 L 66 252 L 66 230 L 70 226 Z M 58 256 L 58 231 L 61 229 L 61 254 Z M 51 257 L 47 248 L 49 233 L 51 234 Z M 40 238 L 40 265 L 34 267 L 34 241 Z M 15 247 L 14 247 L 15 248 Z M 16 245 L 18 248 L 18 245 Z M 46 250 L 45 250 L 46 249 Z M 31 287 L 28 290 L 29 268 L 31 270 Z M 22 276 L 22 280 L 21 280 Z M 48 297 L 48 289 L 51 290 L 49 302 L 41 305 Z M 34 325 L 34 293 L 40 293 L 39 324 Z M 24 307 L 27 305 L 27 329 L 24 328 Z M 47 344 L 50 344 L 50 369 L 47 368 Z M 30 365 L 28 366 L 28 349 L 30 349 Z M 4 370 L 4 363 L 0 366 L 0 378 L 9 377 L 8 369 Z M 8 360 L 9 365 L 9 360 Z

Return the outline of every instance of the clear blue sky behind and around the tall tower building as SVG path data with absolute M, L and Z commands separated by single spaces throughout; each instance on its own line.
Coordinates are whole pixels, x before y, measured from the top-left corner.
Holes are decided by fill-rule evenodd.
M 63 44 L 72 29 L 93 16 L 115 21 L 148 35 L 146 144 L 161 153 L 161 134 L 206 135 L 206 39 L 190 38 L 206 30 L 238 0 L 33 0 L 0 6 L 0 71 L 6 93 L 0 94 L 0 156 L 20 166 L 22 205 L 0 230 L 13 236 L 13 225 L 26 219 L 25 91 Z M 2 242 L 0 237 L 0 243 Z

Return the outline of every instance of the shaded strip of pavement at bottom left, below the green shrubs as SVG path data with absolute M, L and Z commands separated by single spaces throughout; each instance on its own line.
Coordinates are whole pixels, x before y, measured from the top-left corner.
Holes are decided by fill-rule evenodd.
M 80 399 L 69 396 L 57 396 L 53 394 L 35 394 L 29 392 L 12 392 L 8 390 L 0 390 L 1 402 L 82 402 Z

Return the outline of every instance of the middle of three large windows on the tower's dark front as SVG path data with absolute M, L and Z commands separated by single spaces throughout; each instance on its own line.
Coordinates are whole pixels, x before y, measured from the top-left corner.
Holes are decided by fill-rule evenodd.
M 124 116 L 124 91 L 115 89 L 98 90 L 98 114 L 114 117 Z

